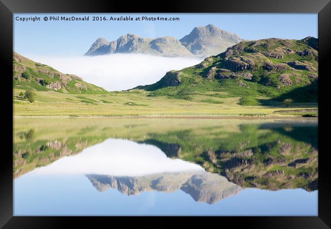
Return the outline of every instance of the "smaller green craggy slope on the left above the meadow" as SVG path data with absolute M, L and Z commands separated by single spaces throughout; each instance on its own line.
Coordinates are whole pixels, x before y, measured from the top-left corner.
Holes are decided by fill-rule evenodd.
M 70 94 L 106 94 L 103 88 L 85 82 L 79 76 L 61 73 L 13 52 L 13 86 L 16 89 L 58 91 Z

